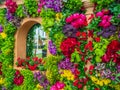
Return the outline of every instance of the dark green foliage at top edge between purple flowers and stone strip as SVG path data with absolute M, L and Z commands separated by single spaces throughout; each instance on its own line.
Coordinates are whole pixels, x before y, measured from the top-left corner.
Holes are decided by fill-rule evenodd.
M 81 0 L 67 0 L 67 2 L 64 1 L 64 7 L 66 9 L 70 9 L 71 11 L 80 11 L 80 8 L 82 7 L 82 1 Z

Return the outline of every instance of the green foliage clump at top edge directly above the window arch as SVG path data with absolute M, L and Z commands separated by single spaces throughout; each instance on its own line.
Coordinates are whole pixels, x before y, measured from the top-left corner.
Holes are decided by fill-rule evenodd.
M 25 5 L 28 13 L 32 17 L 38 16 L 38 13 L 37 13 L 38 5 L 37 5 L 36 0 L 24 0 L 24 5 Z

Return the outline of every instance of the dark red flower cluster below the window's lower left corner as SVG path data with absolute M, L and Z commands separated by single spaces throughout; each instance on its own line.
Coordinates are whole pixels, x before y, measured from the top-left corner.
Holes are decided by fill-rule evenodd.
M 14 74 L 14 84 L 21 85 L 24 81 L 24 76 L 20 74 L 20 71 L 16 71 Z

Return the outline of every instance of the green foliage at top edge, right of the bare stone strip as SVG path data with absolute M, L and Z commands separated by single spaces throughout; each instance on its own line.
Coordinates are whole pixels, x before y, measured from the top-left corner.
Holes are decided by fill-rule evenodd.
M 97 4 L 97 11 L 100 11 L 103 8 L 107 8 L 114 1 L 115 0 L 91 0 L 91 2 Z

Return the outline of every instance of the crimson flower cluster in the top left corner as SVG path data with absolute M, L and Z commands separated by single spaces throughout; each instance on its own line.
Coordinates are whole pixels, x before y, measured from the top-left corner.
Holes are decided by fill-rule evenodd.
M 13 2 L 12 0 L 6 0 L 5 5 L 7 6 L 10 13 L 15 13 L 15 11 L 17 9 L 16 2 Z

